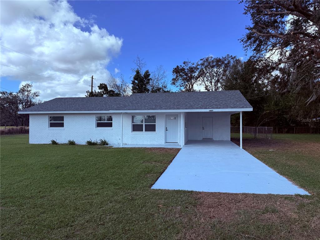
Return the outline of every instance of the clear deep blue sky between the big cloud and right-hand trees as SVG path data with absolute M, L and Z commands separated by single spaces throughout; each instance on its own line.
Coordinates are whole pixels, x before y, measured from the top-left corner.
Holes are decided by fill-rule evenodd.
M 250 19 L 243 15 L 244 6 L 238 1 L 68 3 L 79 17 L 93 20 L 110 35 L 123 39 L 120 52 L 106 68 L 111 74 L 115 74 L 115 68 L 119 69 L 116 76 L 124 74 L 127 81 L 130 81 L 132 61 L 137 55 L 144 58 L 150 71 L 157 65 L 164 65 L 169 82 L 172 69 L 184 60 L 197 61 L 208 55 L 226 54 L 247 58 L 238 39 L 245 34 L 244 28 L 250 24 Z M 20 81 L 2 77 L 1 86 L 17 91 Z

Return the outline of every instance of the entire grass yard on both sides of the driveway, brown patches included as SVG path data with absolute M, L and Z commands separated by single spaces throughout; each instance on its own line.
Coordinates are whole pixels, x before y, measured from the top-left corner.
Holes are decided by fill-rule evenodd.
M 1 239 L 318 239 L 320 145 L 308 136 L 244 148 L 312 196 L 152 190 L 179 150 L 1 136 Z

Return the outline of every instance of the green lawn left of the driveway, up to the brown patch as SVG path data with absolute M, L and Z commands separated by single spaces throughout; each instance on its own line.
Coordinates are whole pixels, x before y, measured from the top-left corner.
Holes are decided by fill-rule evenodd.
M 194 199 L 150 186 L 174 156 L 1 137 L 1 239 L 170 239 Z

